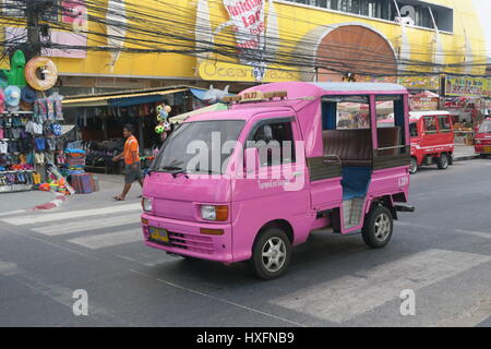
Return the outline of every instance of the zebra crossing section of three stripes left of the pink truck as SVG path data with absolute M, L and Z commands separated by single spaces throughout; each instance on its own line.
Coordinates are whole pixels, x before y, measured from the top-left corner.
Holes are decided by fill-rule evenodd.
M 43 236 L 89 250 L 142 242 L 139 203 L 81 210 L 43 213 L 1 218 L 0 221 L 27 228 Z M 76 237 L 74 237 L 76 236 Z

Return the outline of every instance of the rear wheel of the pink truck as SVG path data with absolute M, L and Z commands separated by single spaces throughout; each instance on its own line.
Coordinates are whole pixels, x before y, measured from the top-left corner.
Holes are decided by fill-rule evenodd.
M 370 248 L 382 249 L 391 241 L 393 231 L 394 220 L 388 208 L 374 206 L 366 217 L 361 237 Z

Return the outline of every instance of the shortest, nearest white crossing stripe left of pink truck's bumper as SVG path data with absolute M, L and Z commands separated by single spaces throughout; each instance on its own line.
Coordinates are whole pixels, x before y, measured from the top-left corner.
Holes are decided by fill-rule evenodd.
M 137 241 L 143 243 L 143 232 L 142 229 L 139 228 L 68 240 L 68 242 L 79 244 L 91 250 L 112 248 Z

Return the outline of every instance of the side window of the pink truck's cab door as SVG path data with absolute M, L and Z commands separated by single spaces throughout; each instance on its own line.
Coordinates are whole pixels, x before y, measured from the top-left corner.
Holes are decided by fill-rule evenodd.
M 291 122 L 271 122 L 260 125 L 250 140 L 259 149 L 261 166 L 295 163 Z

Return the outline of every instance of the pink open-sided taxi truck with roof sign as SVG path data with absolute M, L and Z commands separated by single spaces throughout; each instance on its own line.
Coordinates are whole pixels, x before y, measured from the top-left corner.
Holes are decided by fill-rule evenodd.
M 378 128 L 378 105 L 394 127 Z M 408 93 L 395 84 L 274 83 L 192 116 L 145 178 L 145 244 L 255 274 L 285 273 L 312 232 L 360 232 L 380 249 L 407 204 Z

